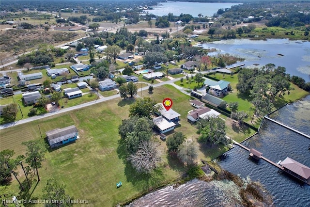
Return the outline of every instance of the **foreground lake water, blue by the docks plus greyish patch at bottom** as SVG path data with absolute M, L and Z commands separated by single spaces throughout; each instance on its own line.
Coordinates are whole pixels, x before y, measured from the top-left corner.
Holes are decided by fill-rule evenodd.
M 286 105 L 270 115 L 284 124 L 310 134 L 310 96 L 294 104 Z M 310 166 L 310 139 L 298 135 L 284 127 L 264 121 L 258 135 L 243 143 L 254 147 L 274 162 L 286 157 Z M 277 207 L 309 207 L 310 186 L 283 174 L 277 167 L 260 160 L 258 163 L 248 159 L 248 151 L 235 146 L 217 160 L 218 164 L 234 174 L 243 177 L 250 175 L 252 180 L 259 180 L 273 195 Z M 221 186 L 221 188 L 219 188 Z M 178 188 L 168 186 L 149 193 L 134 201 L 129 207 L 223 207 L 237 206 L 230 196 L 235 191 L 232 185 L 224 187 L 218 182 L 204 182 L 197 179 Z

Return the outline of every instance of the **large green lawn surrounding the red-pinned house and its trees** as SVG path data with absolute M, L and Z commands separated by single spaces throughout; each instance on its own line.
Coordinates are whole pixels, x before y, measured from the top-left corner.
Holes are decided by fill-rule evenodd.
M 171 85 L 157 87 L 153 94 L 142 92 L 143 96 L 152 96 L 157 102 L 162 102 L 168 94 L 174 101 L 172 109 L 181 114 L 181 126 L 177 127 L 175 131 L 182 131 L 187 138 L 192 138 L 195 141 L 198 137 L 196 128 L 186 120 L 187 111 L 193 109 L 190 106 L 189 96 Z M 138 196 L 142 191 L 169 183 L 181 176 L 185 172 L 185 168 L 169 156 L 164 158 L 165 167 L 160 168 L 150 177 L 137 175 L 123 159 L 124 149 L 120 148 L 118 143 L 120 139 L 118 126 L 122 119 L 128 117 L 129 105 L 132 102 L 133 99 L 117 98 L 77 111 L 1 130 L 1 150 L 13 149 L 16 156 L 25 154 L 22 142 L 40 137 L 38 125 L 43 137 L 46 136 L 46 131 L 57 127 L 76 125 L 79 131 L 80 139 L 75 143 L 49 150 L 46 153 L 47 160 L 43 162 L 43 168 L 39 169 L 41 181 L 35 187 L 36 175 L 34 175 L 31 178 L 32 188 L 30 191 L 22 193 L 22 198 L 38 198 L 42 194 L 47 178 L 53 176 L 65 184 L 67 193 L 76 199 L 88 199 L 91 206 L 102 206 L 102 204 L 114 206 L 119 202 Z M 165 152 L 166 143 L 159 139 L 158 142 Z M 199 146 L 201 149 L 199 159 L 208 161 L 228 149 L 222 145 L 213 148 L 209 148 L 205 144 Z M 25 181 L 22 173 L 19 174 L 19 178 L 22 182 Z M 123 186 L 116 189 L 116 183 L 119 181 L 123 182 Z M 18 183 L 14 178 L 12 186 L 18 190 Z

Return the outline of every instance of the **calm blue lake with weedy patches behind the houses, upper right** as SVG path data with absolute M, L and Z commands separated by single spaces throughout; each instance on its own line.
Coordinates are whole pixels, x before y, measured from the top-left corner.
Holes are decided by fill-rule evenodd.
M 242 63 L 247 67 L 262 67 L 272 63 L 285 67 L 286 72 L 291 75 L 310 81 L 310 42 L 308 41 L 231 39 L 202 46 L 219 49 L 218 52 L 209 53 L 211 56 L 218 53 L 230 53 L 245 58 Z M 237 64 L 232 66 L 234 65 Z

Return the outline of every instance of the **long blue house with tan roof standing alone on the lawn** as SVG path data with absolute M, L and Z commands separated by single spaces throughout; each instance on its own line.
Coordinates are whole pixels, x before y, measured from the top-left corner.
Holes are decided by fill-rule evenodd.
M 73 142 L 78 139 L 78 129 L 72 125 L 64 128 L 55 128 L 47 131 L 47 141 L 51 148 Z

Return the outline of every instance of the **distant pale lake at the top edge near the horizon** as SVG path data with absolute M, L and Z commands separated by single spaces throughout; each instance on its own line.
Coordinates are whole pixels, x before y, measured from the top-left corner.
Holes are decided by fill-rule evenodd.
M 238 4 L 240 3 L 162 2 L 154 6 L 152 10 L 145 10 L 145 12 L 156 16 L 165 16 L 168 13 L 175 16 L 180 16 L 181 13 L 194 17 L 198 17 L 198 14 L 213 16 L 219 9 L 231 8 L 231 6 Z

